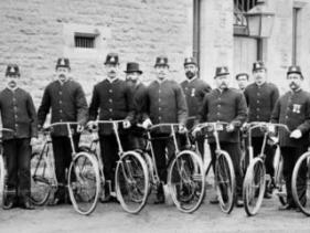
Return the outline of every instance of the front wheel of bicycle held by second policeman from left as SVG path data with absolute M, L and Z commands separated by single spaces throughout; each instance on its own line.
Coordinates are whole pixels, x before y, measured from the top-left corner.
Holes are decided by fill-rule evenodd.
M 76 212 L 88 215 L 98 202 L 100 177 L 98 162 L 88 152 L 75 155 L 68 170 L 68 193 Z

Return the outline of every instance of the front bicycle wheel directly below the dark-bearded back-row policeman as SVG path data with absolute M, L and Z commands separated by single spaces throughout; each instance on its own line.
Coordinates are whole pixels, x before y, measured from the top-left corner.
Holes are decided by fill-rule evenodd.
M 201 205 L 205 194 L 205 176 L 202 159 L 191 150 L 183 150 L 168 169 L 168 187 L 177 208 L 192 213 Z

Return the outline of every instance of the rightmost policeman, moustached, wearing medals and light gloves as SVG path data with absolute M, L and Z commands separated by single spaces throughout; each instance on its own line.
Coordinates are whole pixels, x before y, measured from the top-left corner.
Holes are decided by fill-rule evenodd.
M 287 82 L 290 91 L 277 100 L 271 115 L 272 123 L 285 124 L 291 131 L 279 129 L 284 177 L 287 187 L 287 205 L 281 210 L 296 209 L 291 194 L 291 174 L 298 158 L 308 150 L 310 130 L 310 94 L 301 88 L 303 76 L 299 66 L 292 65 L 288 68 Z M 303 166 L 297 183 L 299 197 L 306 197 L 306 173 L 307 168 Z M 306 198 L 302 201 L 306 204 Z

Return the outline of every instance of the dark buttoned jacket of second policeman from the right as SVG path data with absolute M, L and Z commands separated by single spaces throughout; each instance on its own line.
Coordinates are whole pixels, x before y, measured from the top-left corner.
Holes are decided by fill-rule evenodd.
M 258 86 L 249 84 L 244 92 L 248 106 L 248 121 L 269 121 L 272 109 L 279 98 L 279 91 L 275 84 L 264 83 Z M 253 130 L 253 137 L 263 137 L 259 129 Z

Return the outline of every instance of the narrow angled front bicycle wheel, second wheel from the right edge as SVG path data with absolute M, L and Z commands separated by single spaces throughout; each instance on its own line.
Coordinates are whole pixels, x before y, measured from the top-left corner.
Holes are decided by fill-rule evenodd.
M 244 186 L 243 199 L 247 215 L 255 215 L 263 203 L 266 189 L 266 170 L 260 158 L 255 158 L 247 168 Z

